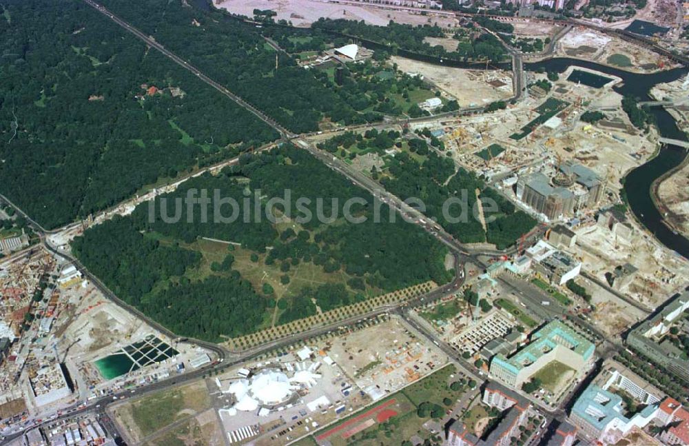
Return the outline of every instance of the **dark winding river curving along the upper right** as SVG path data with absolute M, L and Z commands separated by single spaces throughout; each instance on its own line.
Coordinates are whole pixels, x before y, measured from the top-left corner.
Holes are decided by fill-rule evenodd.
M 209 0 L 191 0 L 194 6 L 203 10 L 210 10 L 212 6 Z M 225 14 L 229 19 L 229 14 Z M 309 28 L 294 28 L 295 30 L 303 30 L 300 32 L 309 32 Z M 376 50 L 389 48 L 380 43 L 358 39 L 367 48 Z M 489 69 L 494 70 L 500 68 L 503 70 L 510 70 L 509 63 L 499 63 L 493 65 L 486 65 L 484 63 L 469 63 L 465 61 L 455 61 L 449 59 L 440 59 L 439 57 L 430 57 L 423 54 L 407 52 L 398 50 L 398 55 L 408 57 L 418 61 L 428 63 L 435 63 L 438 65 L 449 66 L 453 68 L 472 68 L 472 69 Z M 630 94 L 641 100 L 651 99 L 649 92 L 654 85 L 658 83 L 667 83 L 675 81 L 680 77 L 685 77 L 689 70 L 687 68 L 674 68 L 672 70 L 661 71 L 652 74 L 639 74 L 618 70 L 617 68 L 608 65 L 601 65 L 599 63 L 584 61 L 580 59 L 571 59 L 567 57 L 556 57 L 547 59 L 541 62 L 524 63 L 524 68 L 528 71 L 546 70 L 551 72 L 564 72 L 571 65 L 582 68 L 589 68 L 605 74 L 610 74 L 622 79 L 622 83 L 615 86 L 613 89 L 620 94 Z M 677 123 L 672 115 L 664 108 L 654 107 L 650 109 L 655 116 L 656 124 L 661 136 L 670 139 L 678 139 L 687 141 L 687 136 L 684 132 L 677 128 Z M 652 183 L 658 179 L 662 174 L 676 168 L 687 156 L 687 151 L 677 145 L 662 145 L 657 156 L 650 159 L 638 168 L 628 172 L 624 179 L 624 192 L 626 194 L 627 202 L 631 212 L 655 237 L 670 250 L 681 254 L 685 259 L 689 259 L 689 239 L 681 234 L 675 234 L 668 226 L 663 223 L 663 216 L 655 207 L 651 196 Z

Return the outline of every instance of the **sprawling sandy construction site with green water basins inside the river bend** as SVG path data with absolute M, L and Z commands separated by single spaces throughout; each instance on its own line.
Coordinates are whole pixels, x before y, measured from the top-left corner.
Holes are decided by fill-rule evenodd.
M 604 85 L 584 85 L 575 77 Z M 546 82 L 548 92 L 539 86 Z M 617 203 L 621 179 L 652 156 L 657 139 L 653 132 L 638 132 L 621 111 L 621 96 L 612 90 L 617 82 L 577 67 L 568 68 L 553 83 L 546 74 L 534 74 L 530 97 L 522 103 L 466 116 L 461 127 L 443 128 L 445 147 L 459 165 L 491 179 L 514 201 L 521 199 L 513 187 L 520 178 L 540 173 L 554 179 L 563 165 L 580 165 L 605 185 L 606 194 L 596 204 Z M 582 121 L 584 112 L 599 112 L 602 119 Z

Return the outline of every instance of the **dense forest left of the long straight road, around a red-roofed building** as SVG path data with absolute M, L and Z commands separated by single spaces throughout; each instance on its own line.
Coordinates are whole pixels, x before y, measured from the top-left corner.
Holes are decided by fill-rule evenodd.
M 277 136 L 85 3 L 4 8 L 1 192 L 46 227 Z

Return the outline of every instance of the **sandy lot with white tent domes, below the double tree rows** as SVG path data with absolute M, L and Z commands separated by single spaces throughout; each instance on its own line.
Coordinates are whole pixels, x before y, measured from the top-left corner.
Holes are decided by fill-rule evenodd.
M 383 315 L 264 354 L 194 385 L 115 405 L 112 415 L 134 443 L 162 444 L 182 425 L 189 435 L 204 425 L 209 436 L 203 444 L 222 443 L 222 435 L 231 444 L 281 445 L 346 418 L 447 361 L 402 319 Z

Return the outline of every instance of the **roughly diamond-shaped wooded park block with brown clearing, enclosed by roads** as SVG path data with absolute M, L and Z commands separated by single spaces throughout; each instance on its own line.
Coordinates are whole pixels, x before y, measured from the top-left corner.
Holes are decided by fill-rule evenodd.
M 271 223 L 266 218 L 268 201 L 283 197 L 285 189 L 291 190 L 294 208 L 281 206 L 274 216 L 289 215 L 290 221 L 296 222 L 304 211 L 294 203 L 303 197 L 312 200 L 305 208 L 315 217 L 317 199 L 322 197 L 321 213 L 331 216 L 337 212 L 338 217 L 333 223 L 316 218 L 304 221 L 296 230 Z M 209 196 L 218 190 L 219 196 L 232 197 L 238 203 L 245 196 L 260 194 L 260 201 L 247 207 L 250 223 L 243 223 L 243 219 L 216 223 L 212 207 L 203 223 L 200 206 L 190 215 L 182 200 L 175 203 L 189 190 L 208 190 Z M 353 208 L 357 216 L 367 217 L 366 223 L 347 223 L 342 218 L 345 201 L 354 196 L 367 202 Z M 444 245 L 401 218 L 394 223 L 387 219 L 374 223 L 370 194 L 291 146 L 245 154 L 238 165 L 216 176 L 190 179 L 175 192 L 156 198 L 156 210 L 163 200 L 169 203 L 167 216 L 181 207 L 178 221 L 165 223 L 157 213 L 150 219 L 145 203 L 130 216 L 87 230 L 72 247 L 82 263 L 120 298 L 186 336 L 217 341 L 222 335 L 254 332 L 265 326 L 267 311 L 275 307 L 272 287 L 252 287 L 236 270 L 232 251 L 226 252 L 222 262 L 204 268 L 203 253 L 195 250 L 195 242 L 202 237 L 240 243 L 242 249 L 263 256 L 265 265 L 279 264 L 281 271 L 306 263 L 324 274 L 350 277 L 346 284 L 302 287 L 289 298 L 283 296 L 278 301 L 278 323 L 315 314 L 311 299 L 327 311 L 431 279 L 446 283 L 452 277 L 444 268 Z M 260 221 L 253 218 L 256 210 L 262 215 Z M 382 215 L 390 212 L 385 207 Z M 223 209 L 223 216 L 228 215 Z M 259 261 L 258 255 L 252 258 Z

